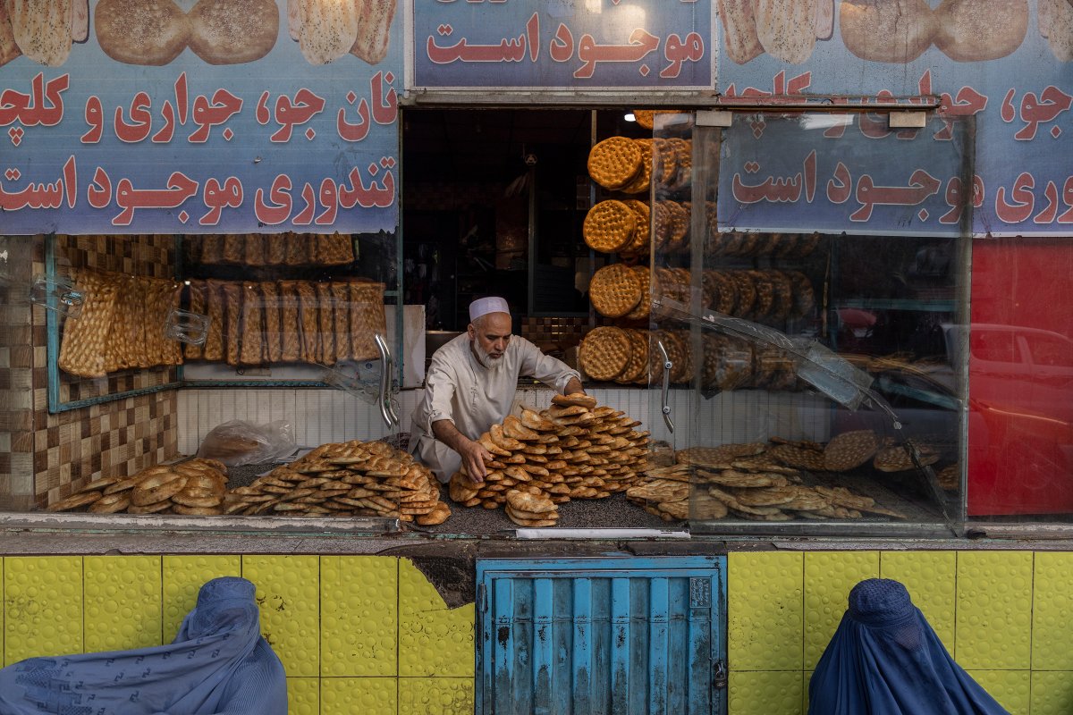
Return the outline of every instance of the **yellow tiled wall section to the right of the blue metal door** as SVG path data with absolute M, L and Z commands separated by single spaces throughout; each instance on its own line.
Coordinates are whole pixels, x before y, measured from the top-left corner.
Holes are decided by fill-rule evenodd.
M 1073 712 L 1073 553 L 735 552 L 730 715 L 804 715 L 808 682 L 867 578 L 906 584 L 957 662 L 1014 715 Z

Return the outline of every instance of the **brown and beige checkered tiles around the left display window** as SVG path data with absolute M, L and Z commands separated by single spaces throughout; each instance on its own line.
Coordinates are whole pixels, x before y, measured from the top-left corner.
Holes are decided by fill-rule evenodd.
M 0 239 L 4 240 L 4 239 Z M 9 238 L 13 283 L 0 286 L 0 510 L 29 510 L 69 495 L 86 481 L 129 475 L 177 456 L 178 422 L 172 390 L 52 415 L 45 309 L 18 300 L 32 277 L 45 272 L 44 238 Z M 167 277 L 174 240 L 164 236 L 56 238 L 60 274 L 97 268 Z M 4 294 L 9 291 L 9 295 Z M 124 371 L 102 379 L 60 373 L 62 401 L 161 385 L 174 369 Z

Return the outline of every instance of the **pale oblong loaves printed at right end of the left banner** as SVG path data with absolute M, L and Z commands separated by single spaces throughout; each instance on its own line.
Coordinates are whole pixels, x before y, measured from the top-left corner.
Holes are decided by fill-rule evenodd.
M 347 54 L 377 64 L 387 55 L 396 0 L 288 0 L 291 39 L 310 64 Z

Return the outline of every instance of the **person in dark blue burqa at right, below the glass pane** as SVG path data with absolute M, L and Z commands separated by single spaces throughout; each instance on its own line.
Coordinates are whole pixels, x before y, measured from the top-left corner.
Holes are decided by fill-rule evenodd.
M 1009 715 L 961 669 L 898 581 L 868 579 L 809 682 L 809 715 Z

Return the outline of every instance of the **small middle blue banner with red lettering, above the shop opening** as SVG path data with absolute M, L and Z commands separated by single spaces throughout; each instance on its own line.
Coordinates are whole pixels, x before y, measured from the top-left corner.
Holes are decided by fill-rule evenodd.
M 710 0 L 413 0 L 412 86 L 710 90 L 712 15 Z

